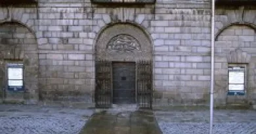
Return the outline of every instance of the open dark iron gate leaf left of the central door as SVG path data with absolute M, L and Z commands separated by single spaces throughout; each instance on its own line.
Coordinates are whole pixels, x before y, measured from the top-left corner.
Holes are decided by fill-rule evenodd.
M 112 62 L 95 61 L 95 104 L 99 108 L 112 107 Z

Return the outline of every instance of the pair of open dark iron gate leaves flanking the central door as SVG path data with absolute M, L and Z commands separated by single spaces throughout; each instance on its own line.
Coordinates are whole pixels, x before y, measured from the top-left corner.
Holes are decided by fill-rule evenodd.
M 137 105 L 152 109 L 152 61 L 138 61 L 137 68 Z M 112 107 L 112 61 L 99 60 L 95 64 L 96 107 Z

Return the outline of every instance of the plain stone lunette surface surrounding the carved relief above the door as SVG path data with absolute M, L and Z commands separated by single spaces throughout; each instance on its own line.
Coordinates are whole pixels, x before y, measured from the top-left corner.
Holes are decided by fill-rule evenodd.
M 120 36 L 131 37 L 141 47 L 140 50 L 133 50 L 132 52 L 116 52 L 106 49 L 108 42 Z M 136 61 L 140 59 L 152 60 L 152 39 L 148 32 L 136 24 L 119 23 L 108 24 L 100 30 L 96 36 L 95 53 L 96 59 L 109 58 L 116 61 Z M 132 55 L 131 55 L 132 54 Z M 118 58 L 114 58 L 118 56 Z M 136 58 L 136 59 L 135 59 Z

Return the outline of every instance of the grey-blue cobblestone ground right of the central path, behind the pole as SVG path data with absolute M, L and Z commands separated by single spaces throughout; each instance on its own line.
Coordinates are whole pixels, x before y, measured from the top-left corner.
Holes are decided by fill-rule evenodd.
M 155 112 L 163 134 L 209 133 L 209 111 Z M 256 134 L 256 111 L 215 110 L 214 134 Z

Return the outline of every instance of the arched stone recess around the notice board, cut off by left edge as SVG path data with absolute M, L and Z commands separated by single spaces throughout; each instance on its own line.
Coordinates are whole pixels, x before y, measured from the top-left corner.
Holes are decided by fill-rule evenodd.
M 37 40 L 31 29 L 17 22 L 0 24 L 0 86 L 5 101 L 36 103 L 38 62 Z M 24 87 L 20 92 L 8 88 L 7 66 L 13 63 L 22 64 Z

